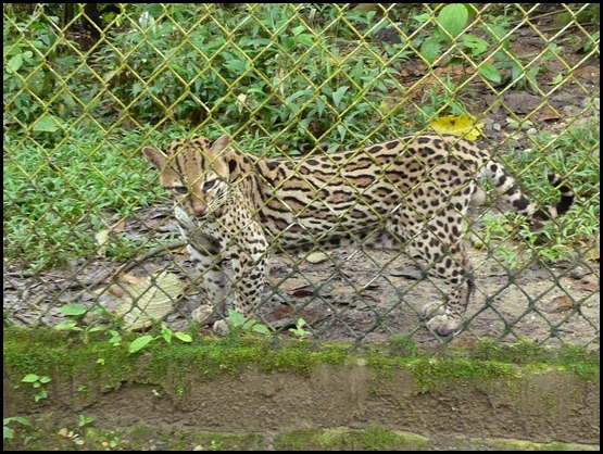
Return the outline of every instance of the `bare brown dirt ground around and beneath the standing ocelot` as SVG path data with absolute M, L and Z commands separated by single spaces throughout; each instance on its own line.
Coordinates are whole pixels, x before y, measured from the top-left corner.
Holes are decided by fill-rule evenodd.
M 171 210 L 148 210 L 149 216 L 164 231 L 176 231 Z M 131 231 L 143 227 L 135 223 Z M 146 222 L 153 230 L 152 223 Z M 476 291 L 472 298 L 468 328 L 456 342 L 470 345 L 477 338 L 502 341 L 530 339 L 545 344 L 571 342 L 598 345 L 600 327 L 599 263 L 582 261 L 555 266 L 528 264 L 508 272 L 488 249 L 476 249 L 467 240 L 467 256 L 473 267 Z M 529 263 L 529 262 L 528 262 Z M 54 269 L 38 276 L 20 278 L 9 272 L 4 280 L 4 307 L 16 323 L 43 325 L 64 320 L 58 307 L 70 302 L 99 302 L 114 308 L 118 299 L 111 292 L 100 299 L 87 286 L 105 288 L 106 276 L 117 268 L 109 262 L 83 262 L 72 269 Z M 185 330 L 188 316 L 203 294 L 192 285 L 197 276 L 184 248 L 158 254 L 135 267 L 128 276 L 143 277 L 169 269 L 185 282 L 185 295 L 165 318 L 174 330 Z M 7 273 L 7 269 L 5 269 Z M 303 318 L 310 336 L 330 341 L 385 342 L 392 335 L 410 336 L 418 343 L 432 344 L 440 339 L 420 323 L 418 311 L 430 301 L 441 301 L 447 291 L 442 281 L 423 277 L 419 264 L 391 251 L 338 249 L 305 257 L 274 254 L 269 261 L 269 283 L 257 319 L 289 328 Z M 124 275 L 122 275 L 124 280 Z M 211 333 L 209 327 L 202 328 Z

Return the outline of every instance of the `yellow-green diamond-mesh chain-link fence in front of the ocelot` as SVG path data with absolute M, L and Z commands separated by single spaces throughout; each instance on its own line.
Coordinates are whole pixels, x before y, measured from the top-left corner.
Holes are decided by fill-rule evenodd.
M 598 346 L 599 4 L 38 3 L 4 4 L 3 20 L 5 326 L 114 336 L 161 323 L 176 332 L 211 332 L 209 321 L 230 310 L 235 325 L 278 336 Z M 535 225 L 499 210 L 486 185 L 482 205 L 454 212 L 463 214 L 475 289 L 448 337 L 434 332 L 422 308 L 458 291 L 450 287 L 455 279 L 445 279 L 450 269 L 431 273 L 453 262 L 417 260 L 413 239 L 391 227 L 391 216 L 415 213 L 432 198 L 435 205 L 445 202 L 426 189 L 442 185 L 434 179 L 441 163 L 419 168 L 426 179 L 410 186 L 388 180 L 392 166 L 404 174 L 411 173 L 404 165 L 427 165 L 404 161 L 418 149 L 395 140 L 426 134 L 477 139 L 539 207 L 560 199 L 549 173 L 560 174 L 576 198 L 563 216 Z M 263 198 L 261 206 L 229 241 L 240 243 L 252 225 L 261 226 L 271 251 L 265 282 L 237 270 L 235 262 L 244 268 L 249 261 L 215 238 L 197 244 L 191 257 L 162 182 L 188 191 L 199 225 L 210 207 L 190 191 L 205 186 L 209 193 L 215 181 L 200 172 L 190 177 L 199 165 L 190 157 L 190 169 L 178 164 L 160 182 L 142 153 L 146 146 L 166 151 L 174 140 L 223 135 L 247 155 L 246 172 L 264 175 L 250 196 Z M 394 152 L 379 161 L 373 146 L 387 140 L 395 140 Z M 437 155 L 435 143 L 441 141 L 420 153 Z M 339 155 L 356 161 L 332 157 L 356 149 L 366 152 Z M 357 179 L 342 175 L 363 159 L 373 165 L 359 164 L 354 178 L 391 184 L 373 204 L 389 200 L 390 190 L 399 199 L 391 216 L 379 214 L 361 235 L 354 224 L 363 218 L 353 216 L 370 206 L 364 192 L 350 192 L 362 186 Z M 316 189 L 321 173 L 338 177 L 323 179 L 312 197 L 286 201 L 291 212 L 273 213 L 279 227 L 268 228 L 264 209 L 279 188 L 265 175 L 278 165 L 289 169 L 282 185 L 298 181 L 302 189 Z M 238 177 L 227 188 L 249 180 Z M 293 231 L 311 206 L 327 210 L 334 201 L 327 220 L 315 219 L 328 241 L 301 229 L 296 235 L 306 235 L 309 244 L 291 251 L 271 238 Z M 415 239 L 431 231 L 441 214 L 435 213 L 411 229 Z M 230 222 L 218 224 L 234 231 Z M 377 238 L 384 229 L 388 238 Z M 338 231 L 354 243 L 334 248 Z M 393 249 L 381 250 L 384 241 Z M 205 270 L 196 268 L 206 255 Z M 199 317 L 200 305 L 217 303 L 211 300 L 218 298 L 212 290 L 218 266 L 226 272 L 219 279 L 239 287 L 239 297 L 243 275 L 261 294 L 251 320 L 229 303 Z

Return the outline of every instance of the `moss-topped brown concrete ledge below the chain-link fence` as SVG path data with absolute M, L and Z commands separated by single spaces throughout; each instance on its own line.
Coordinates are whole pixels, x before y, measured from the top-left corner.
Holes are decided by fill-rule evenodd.
M 54 428 L 77 427 L 85 415 L 99 430 L 255 433 L 273 447 L 275 434 L 307 431 L 303 440 L 318 449 L 337 440 L 325 433 L 367 430 L 411 433 L 411 450 L 456 449 L 455 440 L 469 450 L 504 449 L 505 440 L 599 444 L 599 360 L 576 348 L 489 343 L 434 357 L 395 342 L 351 353 L 250 336 L 159 339 L 134 354 L 127 343 L 4 330 L 4 417 Z M 21 381 L 27 374 L 51 381 L 34 388 Z M 35 402 L 40 389 L 48 396 Z M 400 443 L 393 437 L 389 447 Z

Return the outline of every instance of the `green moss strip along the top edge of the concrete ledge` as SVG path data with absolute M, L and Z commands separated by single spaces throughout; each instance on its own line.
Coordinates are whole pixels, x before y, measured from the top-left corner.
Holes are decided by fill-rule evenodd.
M 265 371 L 311 374 L 324 364 L 335 367 L 363 364 L 384 377 L 407 369 L 423 391 L 450 380 L 513 379 L 526 370 L 551 368 L 575 373 L 589 381 L 599 380 L 599 358 L 585 349 L 573 345 L 550 349 L 528 342 L 499 345 L 483 341 L 469 352 L 448 349 L 436 356 L 419 353 L 409 339 L 394 340 L 387 349 L 367 345 L 364 351 L 353 351 L 350 344 L 239 335 L 201 337 L 192 343 L 177 340 L 166 343 L 159 338 L 130 354 L 127 346 L 135 335 L 117 346 L 105 337 L 92 337 L 84 343 L 77 333 L 42 328 L 7 328 L 3 338 L 4 365 L 13 382 L 27 374 L 38 374 L 76 377 L 76 386 L 98 382 L 104 389 L 121 382 L 138 382 L 186 392 L 185 380 L 190 375 L 187 373 L 211 379 L 251 366 Z

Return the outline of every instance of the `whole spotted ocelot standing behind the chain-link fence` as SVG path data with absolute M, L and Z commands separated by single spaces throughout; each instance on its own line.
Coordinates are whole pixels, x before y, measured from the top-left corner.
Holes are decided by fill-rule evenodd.
M 470 199 L 482 196 L 479 181 L 490 179 L 515 212 L 539 219 L 554 218 L 574 202 L 571 189 L 551 174 L 561 200 L 537 210 L 487 151 L 455 136 L 402 137 L 298 160 L 240 153 L 227 136 L 176 140 L 166 153 L 153 147 L 142 152 L 174 196 L 180 231 L 203 274 L 212 305 L 192 313 L 200 323 L 214 308 L 223 313 L 228 298 L 237 312 L 253 313 L 271 243 L 299 250 L 352 241 L 398 249 L 431 265 L 451 291 L 423 313 L 430 317 L 428 328 L 448 336 L 462 327 L 474 287 L 462 235 Z

